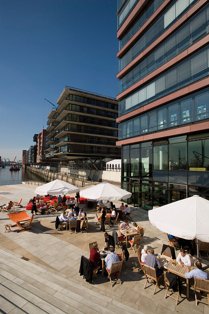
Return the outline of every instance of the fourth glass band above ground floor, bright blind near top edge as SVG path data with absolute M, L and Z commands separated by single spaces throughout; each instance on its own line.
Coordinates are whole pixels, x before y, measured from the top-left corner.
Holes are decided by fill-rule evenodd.
M 121 71 L 160 35 L 173 25 L 198 0 L 175 0 L 156 22 L 140 37 L 136 44 L 119 60 Z

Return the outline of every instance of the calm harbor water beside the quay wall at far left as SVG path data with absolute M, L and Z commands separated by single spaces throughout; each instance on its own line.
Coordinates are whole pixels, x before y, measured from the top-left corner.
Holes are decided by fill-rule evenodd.
M 0 169 L 0 185 L 21 184 L 22 181 L 33 180 L 41 181 L 39 176 L 35 176 L 24 168 L 19 171 L 9 171 L 11 166 Z

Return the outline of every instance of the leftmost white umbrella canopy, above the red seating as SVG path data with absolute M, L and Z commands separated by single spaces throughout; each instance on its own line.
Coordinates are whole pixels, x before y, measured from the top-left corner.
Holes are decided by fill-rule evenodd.
M 49 183 L 46 183 L 40 187 L 37 187 L 35 189 L 35 194 L 65 195 L 70 193 L 76 193 L 79 190 L 80 190 L 79 187 L 75 187 L 70 183 L 57 179 Z

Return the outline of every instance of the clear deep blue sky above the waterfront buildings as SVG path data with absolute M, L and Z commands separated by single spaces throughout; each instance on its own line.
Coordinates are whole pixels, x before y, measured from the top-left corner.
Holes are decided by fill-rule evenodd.
M 65 85 L 118 94 L 117 0 L 2 1 L 0 156 L 22 159 Z

